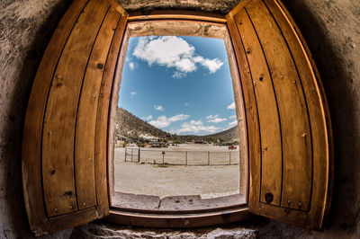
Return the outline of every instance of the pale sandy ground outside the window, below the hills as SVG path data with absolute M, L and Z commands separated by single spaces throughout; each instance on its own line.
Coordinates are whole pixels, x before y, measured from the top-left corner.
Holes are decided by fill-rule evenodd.
M 116 191 L 155 195 L 161 198 L 179 195 L 201 195 L 202 199 L 238 193 L 238 165 L 163 166 L 161 164 L 125 163 L 124 150 L 124 148 L 115 149 L 114 174 Z M 161 154 L 163 150 L 166 151 L 166 154 L 174 153 L 174 151 L 190 151 L 190 153 L 193 153 L 191 151 L 211 151 L 211 162 L 214 162 L 214 164 L 229 162 L 229 149 L 226 146 L 180 145 L 160 149 L 147 148 L 147 150 L 153 150 L 154 155 L 158 154 L 157 151 L 160 151 Z M 221 155 L 218 154 L 220 152 L 221 154 L 222 152 L 228 152 L 226 160 L 217 158 L 217 155 Z M 178 160 L 184 161 L 184 152 L 182 153 L 183 156 Z M 147 152 L 147 155 L 151 154 Z M 231 153 L 233 157 L 231 158 L 232 164 L 236 163 L 236 155 L 238 155 L 238 151 L 237 153 Z M 200 162 L 205 160 L 207 163 L 207 153 L 205 158 L 203 158 L 203 155 L 193 157 L 193 162 L 196 162 L 196 158 Z M 176 162 L 175 158 L 172 161 Z M 153 161 L 148 160 L 148 162 Z

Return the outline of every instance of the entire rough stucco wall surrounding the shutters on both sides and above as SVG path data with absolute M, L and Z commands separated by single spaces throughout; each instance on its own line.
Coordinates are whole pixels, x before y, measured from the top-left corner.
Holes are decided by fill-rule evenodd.
M 30 237 L 21 181 L 23 118 L 49 37 L 71 0 L 0 2 L 0 238 Z M 238 0 L 119 0 L 130 12 L 151 9 L 227 13 Z M 360 237 L 360 3 L 284 0 L 310 45 L 329 100 L 334 129 L 335 188 L 323 233 L 271 220 L 259 237 Z M 67 238 L 71 230 L 49 236 Z

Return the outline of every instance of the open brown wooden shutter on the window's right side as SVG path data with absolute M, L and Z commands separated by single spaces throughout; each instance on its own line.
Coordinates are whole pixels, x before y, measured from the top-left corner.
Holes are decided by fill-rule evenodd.
M 245 102 L 248 208 L 320 229 L 331 195 L 331 127 L 310 51 L 280 1 L 244 0 L 227 22 Z

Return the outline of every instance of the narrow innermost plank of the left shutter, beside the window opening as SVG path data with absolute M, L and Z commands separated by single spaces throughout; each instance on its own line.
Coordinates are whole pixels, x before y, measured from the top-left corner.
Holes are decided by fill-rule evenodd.
M 128 14 L 121 14 L 121 18 L 116 26 L 112 39 L 109 55 L 103 71 L 103 81 L 99 93 L 99 102 L 96 114 L 96 128 L 94 141 L 95 154 L 95 183 L 96 199 L 99 205 L 98 217 L 104 217 L 109 214 L 109 195 L 108 195 L 108 115 L 110 106 L 110 97 L 112 93 L 112 81 L 115 77 L 115 70 L 118 64 L 118 56 L 121 49 L 122 38 L 124 35 Z

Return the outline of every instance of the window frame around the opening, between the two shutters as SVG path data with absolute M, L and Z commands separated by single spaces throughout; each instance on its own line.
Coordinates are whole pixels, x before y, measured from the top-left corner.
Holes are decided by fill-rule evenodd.
M 236 102 L 237 109 L 237 119 L 238 125 L 242 124 L 241 128 L 244 128 L 243 136 L 245 142 L 245 152 L 242 160 L 242 166 L 239 167 L 240 170 L 240 194 L 245 195 L 245 203 L 238 203 L 237 205 L 231 205 L 230 207 L 220 207 L 220 208 L 211 208 L 211 209 L 194 209 L 194 210 L 177 210 L 177 211 L 149 211 L 149 210 L 141 210 L 135 208 L 118 208 L 112 206 L 112 195 L 114 193 L 114 179 L 113 179 L 113 132 L 114 132 L 114 115 L 116 105 L 118 102 L 118 95 L 121 84 L 121 72 L 124 64 L 124 59 L 126 55 L 126 51 L 128 48 L 128 40 L 129 36 L 127 35 L 127 31 L 125 31 L 125 37 L 123 38 L 121 44 L 121 52 L 118 58 L 118 66 L 116 69 L 116 77 L 114 78 L 114 84 L 112 86 L 112 100 L 111 100 L 111 109 L 110 109 L 110 117 L 109 117 L 109 134 L 108 134 L 108 190 L 109 190 L 109 205 L 110 205 L 110 215 L 105 218 L 105 220 L 118 223 L 125 224 L 131 226 L 149 226 L 149 227 L 173 227 L 173 228 L 181 228 L 181 227 L 197 227 L 197 226 L 212 226 L 212 225 L 220 225 L 230 222 L 235 222 L 238 220 L 245 219 L 250 217 L 250 213 L 248 212 L 247 207 L 247 199 L 248 199 L 248 153 L 247 153 L 247 129 L 243 120 L 245 118 L 245 111 L 243 105 L 243 98 L 241 93 L 241 86 L 239 84 L 239 74 L 238 74 L 238 64 L 236 61 L 235 53 L 232 47 L 232 42 L 229 36 L 229 29 L 227 26 L 227 21 L 225 16 L 219 14 L 211 14 L 211 13 L 200 13 L 200 12 L 191 12 L 191 11 L 152 11 L 150 13 L 130 13 L 128 18 L 128 24 L 131 23 L 151 23 L 151 22 L 183 22 L 185 24 L 192 23 L 206 23 L 212 25 L 219 25 L 225 28 L 227 31 L 227 36 L 224 36 L 222 40 L 224 40 L 227 55 L 229 58 L 229 67 L 232 78 L 232 84 L 234 89 L 234 98 Z M 159 34 L 161 35 L 161 34 Z M 192 34 L 188 34 L 192 36 Z M 206 36 L 202 36 L 206 37 Z M 219 37 L 218 37 L 219 38 Z M 240 130 L 239 130 L 240 131 Z M 241 164 L 241 163 L 240 163 Z M 241 169 L 240 169 L 241 168 Z M 219 202 L 221 198 L 218 199 Z

